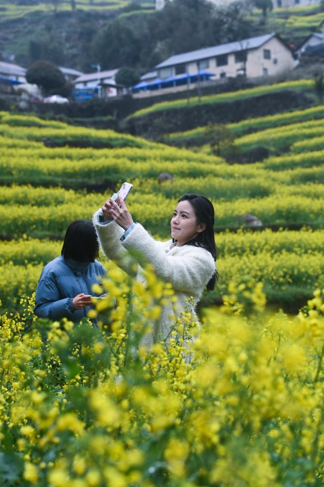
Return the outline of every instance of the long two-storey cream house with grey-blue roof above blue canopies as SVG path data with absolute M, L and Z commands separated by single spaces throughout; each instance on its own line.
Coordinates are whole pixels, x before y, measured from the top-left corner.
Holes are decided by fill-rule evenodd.
M 162 80 L 185 73 L 194 75 L 201 70 L 213 74 L 214 79 L 241 74 L 256 78 L 290 71 L 297 63 L 290 47 L 271 33 L 177 54 L 155 69 Z

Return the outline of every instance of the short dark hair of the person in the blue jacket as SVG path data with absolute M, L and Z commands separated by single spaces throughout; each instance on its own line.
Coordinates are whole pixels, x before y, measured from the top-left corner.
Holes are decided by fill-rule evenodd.
M 75 220 L 66 231 L 62 252 L 64 259 L 94 262 L 99 256 L 99 243 L 92 222 Z

